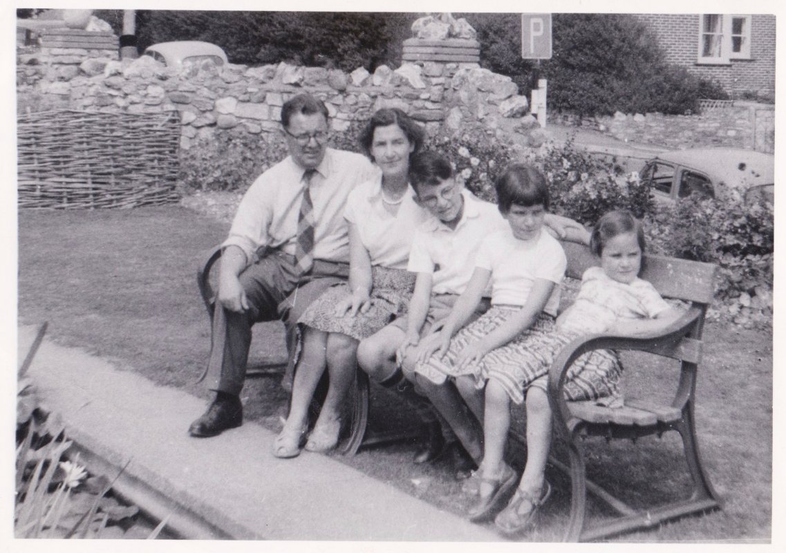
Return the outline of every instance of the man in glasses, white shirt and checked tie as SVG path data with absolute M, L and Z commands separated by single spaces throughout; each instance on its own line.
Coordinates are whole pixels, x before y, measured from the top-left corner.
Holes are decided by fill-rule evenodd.
M 205 381 L 216 392 L 189 434 L 207 438 L 243 422 L 251 329 L 281 319 L 292 357 L 294 325 L 308 304 L 349 273 L 343 221 L 347 195 L 376 174 L 361 154 L 327 147 L 328 110 L 299 94 L 281 108 L 289 156 L 257 178 L 222 244 L 211 355 Z M 291 371 L 292 358 L 290 359 Z

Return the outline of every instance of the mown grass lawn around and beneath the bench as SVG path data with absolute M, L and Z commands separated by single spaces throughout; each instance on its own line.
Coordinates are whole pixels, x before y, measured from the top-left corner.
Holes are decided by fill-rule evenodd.
M 226 235 L 226 224 L 183 207 L 130 211 L 22 211 L 19 215 L 19 317 L 21 324 L 50 321 L 50 337 L 107 357 L 167 386 L 199 397 L 196 379 L 208 356 L 210 328 L 195 270 L 200 254 Z M 773 453 L 773 335 L 707 326 L 697 396 L 697 430 L 705 467 L 725 500 L 723 511 L 683 518 L 617 541 L 740 541 L 771 536 Z M 276 361 L 284 348 L 277 323 L 255 329 L 252 363 Z M 676 368 L 627 357 L 626 394 L 668 394 Z M 636 364 L 634 361 L 644 361 Z M 278 430 L 286 395 L 275 378 L 248 379 L 247 419 Z M 395 418 L 387 397 L 373 404 L 376 420 Z M 194 413 L 198 416 L 200 413 Z M 185 432 L 185 428 L 183 431 Z M 678 434 L 632 445 L 586 441 L 590 478 L 630 504 L 681 493 L 689 482 Z M 556 450 L 558 457 L 559 449 Z M 365 449 L 341 460 L 406 493 L 461 515 L 467 507 L 446 461 L 410 463 L 413 445 Z M 517 463 L 521 455 L 514 455 Z M 564 459 L 564 457 L 563 457 Z M 567 522 L 567 478 L 549 468 L 555 493 L 527 538 L 559 540 Z M 604 515 L 589 501 L 589 515 Z M 468 522 L 469 524 L 469 522 Z

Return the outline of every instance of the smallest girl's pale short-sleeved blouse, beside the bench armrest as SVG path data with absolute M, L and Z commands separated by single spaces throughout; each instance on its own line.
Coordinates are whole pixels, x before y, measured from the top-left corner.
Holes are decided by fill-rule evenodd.
M 597 334 L 619 319 L 652 319 L 669 307 L 646 280 L 637 277 L 626 284 L 608 277 L 601 267 L 590 267 L 575 302 L 560 318 L 559 330 Z

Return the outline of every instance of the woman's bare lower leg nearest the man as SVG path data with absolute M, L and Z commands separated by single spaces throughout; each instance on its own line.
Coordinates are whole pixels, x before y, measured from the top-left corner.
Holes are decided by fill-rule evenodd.
M 328 333 L 314 328 L 303 329 L 303 350 L 292 381 L 292 401 L 285 423 L 292 430 L 303 428 L 308 423 L 308 408 L 314 397 L 319 379 L 325 372 L 325 347 Z

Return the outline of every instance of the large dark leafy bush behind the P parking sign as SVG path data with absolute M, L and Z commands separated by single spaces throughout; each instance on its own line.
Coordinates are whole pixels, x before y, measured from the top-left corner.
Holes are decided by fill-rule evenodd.
M 465 13 L 478 31 L 483 67 L 531 90 L 532 60 L 522 60 L 518 13 Z M 714 82 L 668 64 L 656 36 L 634 16 L 556 13 L 553 57 L 542 61 L 549 109 L 577 115 L 696 112 L 699 98 L 725 99 Z

